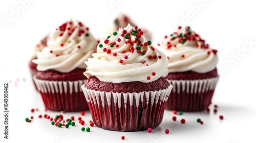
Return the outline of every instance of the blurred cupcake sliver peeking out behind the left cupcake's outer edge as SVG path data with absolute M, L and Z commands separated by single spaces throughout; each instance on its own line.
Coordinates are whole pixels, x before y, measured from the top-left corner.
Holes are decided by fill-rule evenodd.
M 49 39 L 49 36 L 45 36 L 43 39 L 41 39 L 37 44 L 36 46 L 33 48 L 33 51 L 32 51 L 32 56 L 31 56 L 31 59 L 29 60 L 29 69 L 30 69 L 30 74 L 31 74 L 31 77 L 33 78 L 34 74 L 36 73 L 37 69 L 36 69 L 36 66 L 37 64 L 33 63 L 32 60 L 34 59 L 37 59 L 36 57 L 36 52 L 38 51 L 41 51 L 42 49 L 44 49 L 44 47 L 47 46 L 47 41 Z M 34 85 L 35 85 L 35 82 L 33 81 Z M 36 86 L 35 86 L 36 88 Z M 37 88 L 36 88 L 37 89 Z

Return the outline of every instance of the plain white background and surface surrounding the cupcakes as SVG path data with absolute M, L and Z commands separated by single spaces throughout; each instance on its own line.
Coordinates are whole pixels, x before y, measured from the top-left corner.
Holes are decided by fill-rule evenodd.
M 25 0 L 21 0 L 22 2 Z M 110 3 L 117 4 L 111 6 Z M 11 17 L 22 4 L 1 1 L 1 98 L 0 142 L 256 142 L 256 20 L 255 1 L 34 1 L 15 19 Z M 195 8 L 197 7 L 196 11 Z M 198 9 L 199 8 L 199 9 Z M 194 9 L 194 11 L 193 11 Z M 22 10 L 22 9 L 20 9 Z M 38 114 L 55 116 L 57 112 L 44 111 L 39 93 L 31 86 L 28 61 L 32 47 L 47 33 L 73 17 L 90 27 L 95 37 L 104 35 L 104 29 L 114 17 L 123 12 L 153 33 L 153 43 L 161 42 L 164 35 L 176 31 L 175 23 L 189 25 L 211 47 L 218 50 L 220 80 L 212 103 L 218 112 L 194 112 L 177 115 L 165 111 L 162 124 L 153 130 L 140 132 L 114 132 L 97 127 L 82 132 L 81 125 L 57 128 Z M 5 19 L 12 18 L 8 23 Z M 248 44 L 246 41 L 252 41 Z M 244 49 L 246 50 L 244 50 Z M 234 56 L 237 58 L 234 58 Z M 228 61 L 227 59 L 231 60 Z M 19 82 L 17 82 L 17 79 Z M 10 83 L 9 139 L 3 137 L 3 83 Z M 15 81 L 17 86 L 15 86 Z M 39 111 L 31 113 L 31 108 Z M 224 120 L 219 120 L 219 115 Z M 32 123 L 25 118 L 34 116 Z M 65 118 L 79 113 L 63 114 Z M 204 125 L 196 122 L 197 118 Z M 89 111 L 82 116 L 88 127 Z M 186 124 L 181 124 L 185 118 Z M 169 134 L 164 130 L 168 128 Z M 125 140 L 121 140 L 121 136 Z

